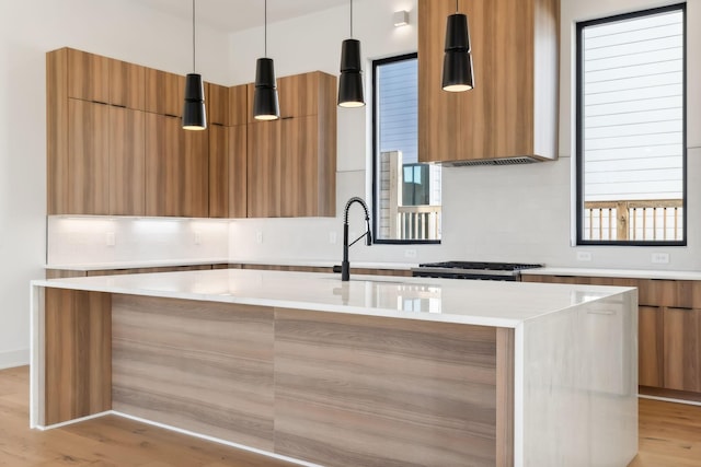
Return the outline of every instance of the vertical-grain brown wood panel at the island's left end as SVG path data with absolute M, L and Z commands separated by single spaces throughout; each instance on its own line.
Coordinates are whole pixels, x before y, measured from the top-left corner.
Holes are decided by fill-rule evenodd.
M 51 425 L 112 408 L 111 294 L 45 290 L 45 411 Z

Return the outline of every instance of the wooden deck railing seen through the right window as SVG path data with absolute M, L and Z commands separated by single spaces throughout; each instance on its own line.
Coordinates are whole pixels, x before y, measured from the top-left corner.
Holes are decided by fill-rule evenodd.
M 683 232 L 683 200 L 587 201 L 585 240 L 677 241 Z

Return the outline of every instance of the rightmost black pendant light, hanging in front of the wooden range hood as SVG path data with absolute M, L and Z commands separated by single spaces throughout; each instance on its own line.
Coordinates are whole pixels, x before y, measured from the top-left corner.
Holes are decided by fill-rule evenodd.
M 456 13 L 448 16 L 446 25 L 446 55 L 443 59 L 443 89 L 450 92 L 469 91 L 474 86 L 472 54 L 468 16 Z

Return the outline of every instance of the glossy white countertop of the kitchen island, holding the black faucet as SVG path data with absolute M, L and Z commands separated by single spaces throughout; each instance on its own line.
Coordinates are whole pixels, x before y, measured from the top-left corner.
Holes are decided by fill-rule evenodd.
M 214 269 L 32 281 L 35 287 L 516 327 L 629 288 Z

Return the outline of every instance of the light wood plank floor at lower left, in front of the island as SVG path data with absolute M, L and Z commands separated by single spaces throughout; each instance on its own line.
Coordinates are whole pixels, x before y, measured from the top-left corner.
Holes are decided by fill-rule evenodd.
M 292 467 L 120 417 L 30 430 L 28 366 L 0 371 L 0 467 Z

